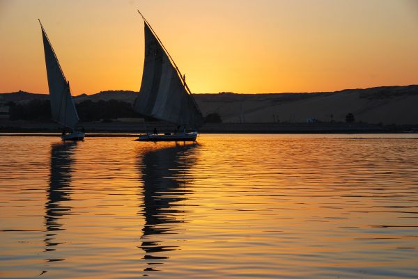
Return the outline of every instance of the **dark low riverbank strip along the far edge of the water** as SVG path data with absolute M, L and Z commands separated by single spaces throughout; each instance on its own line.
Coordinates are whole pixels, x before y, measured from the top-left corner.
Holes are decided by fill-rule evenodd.
M 173 133 L 175 127 L 166 122 L 85 122 L 80 123 L 90 134 L 144 134 L 157 129 L 158 133 Z M 0 133 L 61 133 L 54 122 L 0 122 Z M 417 131 L 410 125 L 371 125 L 366 123 L 207 123 L 201 134 L 373 134 Z

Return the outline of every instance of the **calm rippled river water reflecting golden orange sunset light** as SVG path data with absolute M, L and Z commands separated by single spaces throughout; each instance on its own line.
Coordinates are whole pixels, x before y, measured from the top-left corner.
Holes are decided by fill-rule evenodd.
M 1 136 L 0 277 L 418 278 L 418 139 L 348 137 Z

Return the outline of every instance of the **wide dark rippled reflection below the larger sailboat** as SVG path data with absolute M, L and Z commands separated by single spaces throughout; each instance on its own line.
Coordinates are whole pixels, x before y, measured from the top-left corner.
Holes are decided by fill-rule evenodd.
M 139 173 L 144 182 L 143 201 L 145 224 L 142 229 L 141 248 L 147 267 L 144 271 L 160 271 L 155 265 L 168 259 L 168 251 L 178 246 L 164 245 L 159 234 L 176 234 L 178 224 L 185 222 L 182 201 L 187 199 L 187 172 L 196 164 L 196 143 L 188 145 L 155 145 L 155 149 L 141 154 Z M 161 236 L 161 235 L 160 235 Z M 146 274 L 144 275 L 146 276 Z

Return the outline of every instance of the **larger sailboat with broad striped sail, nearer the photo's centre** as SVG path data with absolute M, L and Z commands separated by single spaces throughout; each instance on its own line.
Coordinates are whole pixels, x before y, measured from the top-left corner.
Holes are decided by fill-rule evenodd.
M 196 141 L 203 115 L 187 86 L 185 76 L 162 44 L 153 28 L 144 19 L 145 58 L 141 90 L 134 111 L 176 125 L 180 133 L 139 135 L 138 141 Z M 191 129 L 192 131 L 187 131 Z

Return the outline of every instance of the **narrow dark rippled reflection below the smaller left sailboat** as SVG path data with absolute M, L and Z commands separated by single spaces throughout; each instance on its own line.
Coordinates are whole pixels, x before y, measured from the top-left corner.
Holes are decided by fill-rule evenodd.
M 56 250 L 61 244 L 56 240 L 57 233 L 65 230 L 60 223 L 70 212 L 68 201 L 71 191 L 71 173 L 74 163 L 74 152 L 77 143 L 54 143 L 51 145 L 51 173 L 47 189 L 47 202 L 45 203 L 45 252 Z M 64 259 L 48 258 L 46 262 L 56 262 Z

